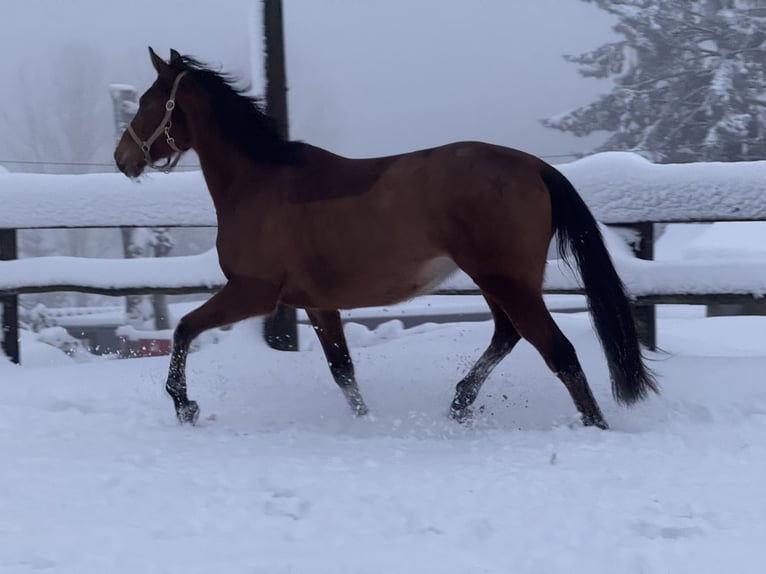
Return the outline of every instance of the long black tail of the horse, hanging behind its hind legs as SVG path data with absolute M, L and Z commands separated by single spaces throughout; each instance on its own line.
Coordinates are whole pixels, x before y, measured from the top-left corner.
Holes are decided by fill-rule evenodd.
M 659 392 L 652 372 L 644 365 L 636 325 L 622 283 L 593 214 L 570 181 L 546 165 L 542 178 L 551 194 L 553 226 L 562 259 L 569 251 L 580 269 L 596 332 L 609 364 L 612 394 L 630 405 Z

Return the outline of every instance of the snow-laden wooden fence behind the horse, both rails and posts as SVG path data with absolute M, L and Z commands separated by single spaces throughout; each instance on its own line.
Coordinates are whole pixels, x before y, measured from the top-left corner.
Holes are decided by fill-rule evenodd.
M 657 165 L 630 153 L 597 154 L 560 166 L 604 224 L 621 231 L 633 254 L 653 259 L 653 223 L 766 221 L 766 161 Z M 215 211 L 199 172 L 152 174 L 0 173 L 0 260 L 16 259 L 19 229 L 209 227 Z M 627 231 L 627 234 L 626 234 Z M 637 305 L 642 338 L 654 346 L 656 303 L 728 303 L 766 294 L 766 265 L 746 261 L 641 261 L 610 247 Z M 0 262 L 6 353 L 16 333 L 16 294 L 85 291 L 110 295 L 199 293 L 224 282 L 214 252 L 162 260 L 40 257 Z M 575 277 L 549 264 L 546 291 L 580 293 Z M 464 276 L 444 293 L 475 292 Z M 13 324 L 11 324 L 13 323 Z M 13 351 L 11 353 L 13 354 Z

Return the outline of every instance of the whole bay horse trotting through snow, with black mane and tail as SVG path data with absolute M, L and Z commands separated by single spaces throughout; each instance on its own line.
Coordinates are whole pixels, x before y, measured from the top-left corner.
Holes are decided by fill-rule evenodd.
M 181 423 L 199 416 L 187 396 L 191 341 L 280 303 L 306 310 L 335 382 L 352 411 L 366 414 L 338 309 L 403 301 L 462 269 L 486 299 L 494 334 L 457 384 L 451 416 L 470 416 L 482 383 L 523 337 L 564 383 L 583 424 L 608 428 L 574 347 L 543 302 L 554 233 L 562 258 L 571 252 L 580 270 L 615 399 L 630 405 L 657 392 L 596 221 L 554 167 L 479 142 L 348 159 L 282 138 L 230 76 L 175 50 L 167 62 L 149 53 L 157 79 L 115 162 L 136 178 L 147 166 L 171 169 L 185 151 L 197 153 L 227 278 L 173 335 L 165 388 Z

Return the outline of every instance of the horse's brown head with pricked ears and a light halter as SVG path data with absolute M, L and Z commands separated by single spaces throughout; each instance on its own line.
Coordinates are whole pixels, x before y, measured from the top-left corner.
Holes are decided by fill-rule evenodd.
M 179 85 L 188 73 L 183 58 L 175 50 L 170 51 L 170 62 L 151 48 L 149 55 L 157 79 L 141 96 L 138 111 L 114 150 L 117 167 L 128 177 L 138 177 L 146 166 L 169 171 L 191 147 L 185 114 L 176 104 Z

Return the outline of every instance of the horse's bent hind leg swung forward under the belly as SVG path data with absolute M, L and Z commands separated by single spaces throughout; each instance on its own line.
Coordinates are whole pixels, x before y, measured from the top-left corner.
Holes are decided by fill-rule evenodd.
M 476 400 L 484 381 L 521 338 L 505 311 L 488 295 L 485 294 L 484 298 L 495 320 L 495 332 L 487 349 L 455 389 L 450 416 L 461 422 L 470 416 L 470 407 Z

